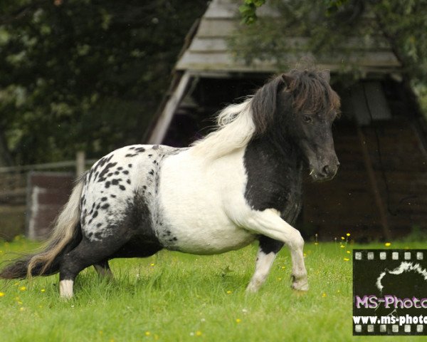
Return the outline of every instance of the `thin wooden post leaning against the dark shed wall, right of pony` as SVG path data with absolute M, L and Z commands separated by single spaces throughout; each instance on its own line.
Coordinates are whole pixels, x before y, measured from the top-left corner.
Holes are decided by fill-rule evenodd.
M 362 132 L 362 129 L 357 126 L 357 135 L 359 136 L 360 145 L 362 147 L 362 155 L 364 160 L 364 165 L 367 168 L 369 183 L 371 185 L 371 190 L 374 193 L 374 199 L 376 207 L 379 211 L 379 220 L 381 222 L 381 227 L 383 229 L 384 237 L 386 239 L 391 238 L 390 229 L 389 229 L 389 221 L 387 219 L 386 209 L 384 208 L 383 201 L 381 199 L 381 194 L 379 193 L 378 182 L 376 182 L 374 167 L 372 167 L 371 157 L 369 157 L 369 150 L 366 145 L 366 139 Z

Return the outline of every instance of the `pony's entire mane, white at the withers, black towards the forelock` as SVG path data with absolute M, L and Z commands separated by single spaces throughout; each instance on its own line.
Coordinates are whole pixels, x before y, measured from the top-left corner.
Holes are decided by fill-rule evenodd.
M 339 96 L 330 88 L 329 71 L 292 70 L 272 78 L 253 97 L 228 105 L 216 119 L 216 130 L 196 140 L 191 151 L 205 160 L 214 160 L 245 147 L 255 136 L 274 125 L 278 92 L 292 93 L 292 108 L 316 113 L 339 110 Z

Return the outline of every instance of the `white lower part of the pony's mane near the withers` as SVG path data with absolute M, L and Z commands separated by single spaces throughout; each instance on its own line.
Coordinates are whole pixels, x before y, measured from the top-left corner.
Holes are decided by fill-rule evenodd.
M 193 142 L 191 150 L 207 160 L 214 160 L 248 145 L 255 133 L 251 100 L 247 98 L 221 110 L 216 118 L 216 130 Z

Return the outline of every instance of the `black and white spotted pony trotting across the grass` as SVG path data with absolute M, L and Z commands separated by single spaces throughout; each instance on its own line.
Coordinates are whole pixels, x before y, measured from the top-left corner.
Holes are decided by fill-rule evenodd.
M 15 261 L 0 278 L 59 271 L 60 296 L 73 296 L 75 276 L 108 260 L 149 257 L 160 249 L 218 254 L 259 240 L 248 291 L 265 281 L 286 244 L 292 288 L 307 291 L 294 224 L 302 171 L 329 180 L 339 165 L 332 122 L 339 97 L 329 71 L 290 71 L 218 115 L 218 128 L 189 148 L 122 147 L 80 177 L 46 248 Z

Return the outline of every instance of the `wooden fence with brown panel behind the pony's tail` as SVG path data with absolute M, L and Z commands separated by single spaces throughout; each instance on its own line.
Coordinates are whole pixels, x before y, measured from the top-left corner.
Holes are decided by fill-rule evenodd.
M 78 152 L 75 160 L 0 167 L 0 239 L 45 237 L 73 179 L 95 161 Z

